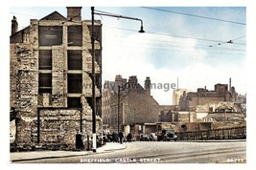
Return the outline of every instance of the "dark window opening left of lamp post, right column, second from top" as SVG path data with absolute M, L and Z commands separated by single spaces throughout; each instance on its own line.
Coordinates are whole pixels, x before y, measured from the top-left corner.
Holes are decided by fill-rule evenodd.
M 68 51 L 68 70 L 81 70 L 81 51 Z

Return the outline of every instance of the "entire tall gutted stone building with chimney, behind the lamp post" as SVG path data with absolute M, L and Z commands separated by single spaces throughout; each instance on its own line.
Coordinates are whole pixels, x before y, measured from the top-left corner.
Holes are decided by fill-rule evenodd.
M 91 21 L 81 7 L 54 11 L 18 31 L 12 19 L 11 110 L 17 145 L 75 147 L 92 132 Z M 96 127 L 102 127 L 102 24 L 95 21 Z M 84 141 L 85 143 L 85 141 Z

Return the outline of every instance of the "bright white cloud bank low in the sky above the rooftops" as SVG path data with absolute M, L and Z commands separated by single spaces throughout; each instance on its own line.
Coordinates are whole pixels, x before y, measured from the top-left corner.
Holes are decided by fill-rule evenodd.
M 142 86 L 146 76 L 151 77 L 151 83 L 171 85 L 176 84 L 176 79 L 179 77 L 179 88 L 197 91 L 204 86 L 214 90 L 215 84 L 227 84 L 229 77 L 232 77 L 233 85 L 237 90 L 245 93 L 245 81 L 241 81 L 244 76 L 244 65 L 241 65 L 240 69 L 237 65 L 232 65 L 232 61 L 229 61 L 229 65 L 223 65 L 221 58 L 217 58 L 216 62 L 219 64 L 205 61 L 209 54 L 203 49 L 198 49 L 197 40 L 184 41 L 172 36 L 136 32 L 124 34 L 121 38 L 115 39 L 113 37 L 122 32 L 109 32 L 109 30 L 105 32 L 107 32 L 104 37 L 107 48 L 104 48 L 103 53 L 104 80 L 114 80 L 116 74 L 122 74 L 125 78 L 137 75 Z M 156 42 L 165 44 L 156 45 Z M 180 52 L 161 51 L 161 49 L 168 50 L 169 43 L 176 43 L 175 48 L 180 49 Z M 179 47 L 179 44 L 182 46 Z M 172 104 L 173 89 L 171 88 L 168 91 L 164 88 L 152 89 L 151 95 L 160 104 Z

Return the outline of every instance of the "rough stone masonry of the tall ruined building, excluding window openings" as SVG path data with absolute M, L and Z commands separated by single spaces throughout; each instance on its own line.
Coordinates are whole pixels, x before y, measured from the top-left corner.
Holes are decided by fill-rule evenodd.
M 41 48 L 38 45 L 38 25 L 58 24 L 63 26 L 63 44 L 42 47 L 44 50 L 52 50 L 52 94 L 38 94 L 38 50 Z M 71 22 L 62 24 L 62 21 L 32 19 L 26 32 L 22 31 L 22 37 L 17 32 L 17 39 L 14 36 L 11 38 L 11 107 L 17 113 L 15 142 L 19 145 L 75 147 L 78 130 L 82 132 L 84 143 L 87 135 L 92 136 L 92 111 L 88 101 L 92 96 L 92 56 L 89 52 L 91 42 L 87 21 L 81 22 L 83 37 L 82 47 L 79 49 L 82 50 L 82 94 L 75 94 L 76 97 L 81 96 L 81 109 L 67 108 L 67 48 L 78 50 L 78 47 L 67 46 L 67 27 L 72 24 L 74 25 Z M 95 48 L 101 50 L 99 41 L 96 41 Z M 96 62 L 95 66 L 95 72 L 101 74 L 100 65 Z M 101 96 L 98 88 L 96 96 Z M 101 117 L 97 117 L 96 128 L 100 135 Z

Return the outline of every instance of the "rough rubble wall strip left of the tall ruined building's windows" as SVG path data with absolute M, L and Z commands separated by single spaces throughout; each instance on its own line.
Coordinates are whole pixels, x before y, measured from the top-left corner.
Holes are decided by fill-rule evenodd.
M 29 40 L 11 45 L 11 106 L 15 108 L 15 142 L 36 141 L 38 94 L 38 25 L 31 21 Z M 35 137 L 35 138 L 34 138 Z

